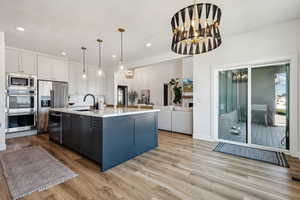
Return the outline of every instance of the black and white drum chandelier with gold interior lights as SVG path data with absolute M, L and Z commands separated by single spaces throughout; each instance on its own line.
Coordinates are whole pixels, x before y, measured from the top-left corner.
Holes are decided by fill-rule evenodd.
M 209 52 L 222 43 L 220 35 L 221 9 L 210 3 L 190 5 L 178 11 L 171 21 L 172 51 L 195 55 Z

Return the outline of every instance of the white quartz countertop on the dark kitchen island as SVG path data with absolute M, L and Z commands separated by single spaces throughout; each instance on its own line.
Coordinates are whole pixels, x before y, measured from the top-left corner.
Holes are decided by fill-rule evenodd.
M 117 117 L 124 115 L 135 115 L 142 113 L 159 112 L 159 109 L 140 109 L 140 108 L 104 108 L 101 110 L 78 111 L 82 108 L 51 108 L 50 111 L 86 115 L 91 117 Z

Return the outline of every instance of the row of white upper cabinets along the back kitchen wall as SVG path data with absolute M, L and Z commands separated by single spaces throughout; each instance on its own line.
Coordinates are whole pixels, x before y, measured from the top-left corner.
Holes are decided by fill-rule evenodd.
M 82 64 L 59 60 L 51 56 L 6 49 L 6 72 L 37 75 L 39 80 L 64 81 L 69 84 L 69 95 L 92 93 L 102 95 L 104 82 L 96 66 L 87 66 L 87 77 L 82 78 Z

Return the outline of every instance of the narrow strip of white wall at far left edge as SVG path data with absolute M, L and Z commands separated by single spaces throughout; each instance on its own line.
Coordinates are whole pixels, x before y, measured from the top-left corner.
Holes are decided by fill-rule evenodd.
M 4 33 L 0 32 L 0 151 L 5 145 L 5 43 Z

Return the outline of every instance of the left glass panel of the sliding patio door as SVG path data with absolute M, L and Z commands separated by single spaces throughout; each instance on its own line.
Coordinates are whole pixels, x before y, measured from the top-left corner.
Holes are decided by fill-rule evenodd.
M 219 72 L 219 139 L 247 143 L 248 69 Z

